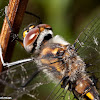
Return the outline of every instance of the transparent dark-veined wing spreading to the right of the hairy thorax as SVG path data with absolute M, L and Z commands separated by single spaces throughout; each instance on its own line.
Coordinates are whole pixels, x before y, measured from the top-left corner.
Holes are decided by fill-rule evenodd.
M 100 82 L 100 14 L 83 29 L 74 45 L 77 53 L 90 66 L 87 67 L 89 73 Z

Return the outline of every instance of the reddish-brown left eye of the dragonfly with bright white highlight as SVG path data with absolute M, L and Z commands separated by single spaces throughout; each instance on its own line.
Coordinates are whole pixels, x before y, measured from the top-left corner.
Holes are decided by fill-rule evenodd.
M 39 28 L 33 28 L 25 36 L 23 44 L 24 44 L 24 48 L 27 52 L 32 52 L 32 50 L 35 46 L 34 43 L 37 40 L 38 35 L 39 35 Z

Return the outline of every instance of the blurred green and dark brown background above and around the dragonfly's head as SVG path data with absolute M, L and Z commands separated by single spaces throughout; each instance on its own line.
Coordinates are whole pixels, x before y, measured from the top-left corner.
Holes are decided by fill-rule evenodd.
M 0 0 L 0 9 L 7 6 L 8 2 L 8 0 Z M 61 35 L 66 41 L 74 43 L 87 23 L 100 14 L 100 0 L 29 0 L 26 10 L 38 15 L 43 23 L 51 25 L 54 35 Z M 0 16 L 1 28 L 4 18 L 1 12 Z M 39 20 L 25 14 L 19 32 L 20 38 L 22 38 L 23 28 L 30 23 L 38 24 Z M 29 56 L 30 54 L 17 42 L 11 61 Z M 6 59 L 9 61 L 9 56 L 6 56 Z

